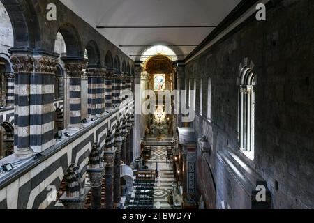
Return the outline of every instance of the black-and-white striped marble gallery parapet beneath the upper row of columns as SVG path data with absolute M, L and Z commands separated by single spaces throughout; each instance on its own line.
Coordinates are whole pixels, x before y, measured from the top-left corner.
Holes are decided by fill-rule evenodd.
M 81 133 L 69 137 L 45 155 L 44 160 L 26 160 L 27 169 L 15 169 L 13 175 L 0 175 L 0 209 L 43 209 L 52 208 L 54 202 L 48 201 L 47 188 L 59 188 L 61 181 L 72 164 L 80 168 L 82 181 L 85 180 L 89 156 L 94 144 L 105 146 L 107 132 L 115 132 L 120 117 L 130 112 L 134 102 L 114 109 L 108 116 L 82 129 Z

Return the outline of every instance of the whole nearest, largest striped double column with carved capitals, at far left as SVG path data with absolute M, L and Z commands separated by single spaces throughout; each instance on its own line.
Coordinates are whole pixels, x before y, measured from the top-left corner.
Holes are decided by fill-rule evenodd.
M 11 56 L 15 70 L 15 155 L 27 158 L 54 145 L 57 57 Z

